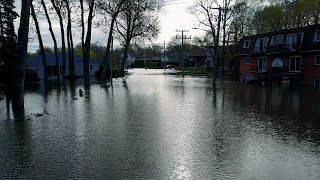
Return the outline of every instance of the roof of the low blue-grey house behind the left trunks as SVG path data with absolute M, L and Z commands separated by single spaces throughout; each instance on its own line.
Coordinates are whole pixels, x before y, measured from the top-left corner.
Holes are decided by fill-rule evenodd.
M 62 54 L 58 54 L 58 60 L 59 64 L 63 64 L 62 60 Z M 56 58 L 54 54 L 46 53 L 46 62 L 47 65 L 55 65 L 56 64 Z M 75 55 L 74 57 L 74 63 L 75 64 L 82 64 L 82 57 Z M 90 58 L 90 63 L 99 63 L 92 58 Z M 27 65 L 42 65 L 42 56 L 40 54 L 29 56 L 26 62 Z M 69 58 L 67 56 L 66 64 L 69 64 Z

